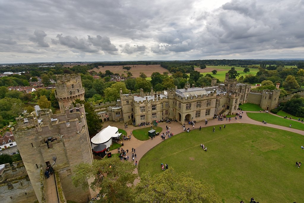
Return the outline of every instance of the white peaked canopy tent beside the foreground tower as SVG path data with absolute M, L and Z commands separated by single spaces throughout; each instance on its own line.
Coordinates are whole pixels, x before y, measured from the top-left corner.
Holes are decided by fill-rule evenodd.
M 118 132 L 118 128 L 113 127 L 113 126 L 108 126 L 104 129 L 102 129 L 100 132 L 98 132 L 94 137 L 92 137 L 91 147 L 93 149 L 95 146 L 97 146 L 99 144 L 104 144 L 108 148 L 112 144 L 112 138 L 117 138 L 121 134 L 122 133 Z

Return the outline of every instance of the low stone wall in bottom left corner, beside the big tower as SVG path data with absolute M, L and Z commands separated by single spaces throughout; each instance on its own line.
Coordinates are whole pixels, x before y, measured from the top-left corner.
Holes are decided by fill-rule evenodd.
M 22 161 L 5 164 L 0 173 L 0 199 L 2 203 L 34 203 L 37 200 Z

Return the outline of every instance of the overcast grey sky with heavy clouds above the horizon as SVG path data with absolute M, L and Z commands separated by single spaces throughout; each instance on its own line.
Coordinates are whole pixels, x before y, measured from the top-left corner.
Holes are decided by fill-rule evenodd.
M 0 63 L 304 58 L 301 0 L 0 0 Z

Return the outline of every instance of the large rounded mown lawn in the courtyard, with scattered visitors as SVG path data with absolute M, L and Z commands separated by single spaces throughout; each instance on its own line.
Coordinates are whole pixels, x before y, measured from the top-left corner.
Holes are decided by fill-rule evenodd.
M 161 142 L 141 159 L 139 174 L 162 173 L 161 163 L 177 172 L 190 171 L 213 184 L 222 202 L 301 202 L 304 136 L 266 126 L 226 124 L 180 133 Z M 208 151 L 200 148 L 204 144 Z M 274 198 L 276 200 L 274 200 Z

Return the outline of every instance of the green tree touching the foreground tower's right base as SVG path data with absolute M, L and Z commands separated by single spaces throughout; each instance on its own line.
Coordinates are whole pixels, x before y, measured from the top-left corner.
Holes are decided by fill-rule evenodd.
M 100 202 L 132 202 L 134 194 L 128 184 L 133 184 L 138 176 L 133 173 L 135 167 L 131 162 L 121 162 L 116 156 L 94 160 L 92 165 L 77 165 L 72 181 L 75 187 L 81 185 L 85 189 L 90 186 L 99 194 L 105 195 Z M 89 178 L 95 178 L 90 185 L 87 182 Z

